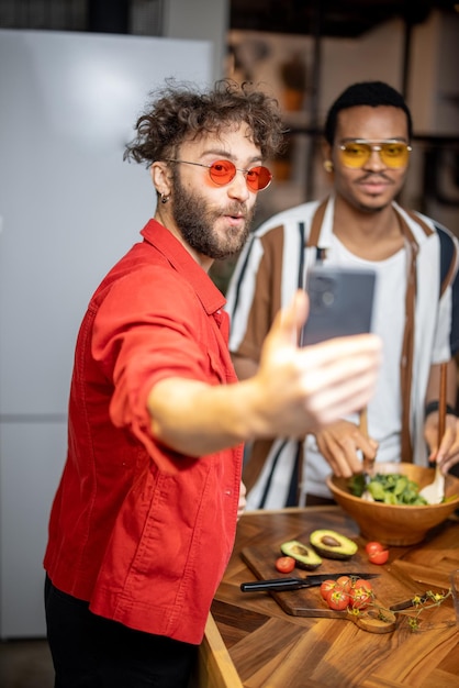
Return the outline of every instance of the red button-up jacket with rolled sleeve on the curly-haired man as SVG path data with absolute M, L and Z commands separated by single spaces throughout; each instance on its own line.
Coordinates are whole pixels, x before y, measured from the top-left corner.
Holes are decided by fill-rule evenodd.
M 169 451 L 146 399 L 171 376 L 236 377 L 223 296 L 168 230 L 152 220 L 142 234 L 81 323 L 44 566 L 94 613 L 198 644 L 233 548 L 242 446 Z

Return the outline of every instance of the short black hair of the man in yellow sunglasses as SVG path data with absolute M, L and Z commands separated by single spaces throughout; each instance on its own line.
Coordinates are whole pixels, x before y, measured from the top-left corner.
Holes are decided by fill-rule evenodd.
M 326 141 L 333 145 L 336 134 L 336 122 L 338 113 L 347 108 L 356 108 L 358 106 L 370 106 L 378 108 L 379 106 L 392 106 L 400 108 L 406 114 L 408 141 L 413 135 L 413 121 L 405 99 L 398 90 L 384 84 L 383 81 L 361 81 L 352 84 L 343 91 L 328 110 L 324 135 Z

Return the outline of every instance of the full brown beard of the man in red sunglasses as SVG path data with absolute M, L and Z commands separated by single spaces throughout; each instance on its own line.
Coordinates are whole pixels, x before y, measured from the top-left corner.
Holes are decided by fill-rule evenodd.
M 175 175 L 172 217 L 180 234 L 198 253 L 213 260 L 229 258 L 239 253 L 250 233 L 255 206 L 247 210 L 245 203 L 228 201 L 226 208 L 210 207 L 199 193 L 190 193 L 180 182 L 179 175 Z M 223 233 L 215 230 L 217 220 L 224 215 L 242 214 L 244 228 L 228 226 Z

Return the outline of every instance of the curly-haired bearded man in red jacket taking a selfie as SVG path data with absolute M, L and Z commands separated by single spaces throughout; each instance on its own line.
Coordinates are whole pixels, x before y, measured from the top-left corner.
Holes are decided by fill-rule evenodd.
M 208 271 L 240 249 L 270 182 L 273 99 L 169 84 L 136 132 L 125 157 L 149 168 L 157 208 L 80 326 L 44 561 L 58 688 L 187 686 L 244 508 L 243 443 L 361 407 L 379 369 L 373 335 L 298 348 L 299 292 L 237 382 Z

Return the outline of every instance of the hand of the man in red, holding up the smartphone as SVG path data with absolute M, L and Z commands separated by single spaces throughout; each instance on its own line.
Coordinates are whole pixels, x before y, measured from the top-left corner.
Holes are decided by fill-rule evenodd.
M 271 436 L 315 433 L 363 408 L 374 392 L 381 340 L 361 334 L 298 347 L 307 310 L 307 296 L 299 290 L 278 313 L 251 378 Z

